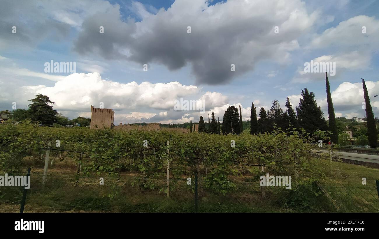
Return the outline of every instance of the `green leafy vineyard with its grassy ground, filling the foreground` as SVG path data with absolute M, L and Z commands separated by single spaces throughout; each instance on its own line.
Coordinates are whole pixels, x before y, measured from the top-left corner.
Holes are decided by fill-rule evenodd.
M 314 137 L 3 125 L 0 171 L 32 168 L 25 211 L 193 212 L 195 193 L 209 212 L 378 211 L 379 171 L 312 154 Z M 47 149 L 54 164 L 42 185 Z M 290 175 L 291 189 L 260 186 L 266 174 Z M 2 187 L 0 205 L 17 211 L 21 196 Z

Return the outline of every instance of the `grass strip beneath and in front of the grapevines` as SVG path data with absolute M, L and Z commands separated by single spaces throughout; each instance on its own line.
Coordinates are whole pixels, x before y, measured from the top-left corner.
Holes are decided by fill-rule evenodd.
M 67 161 L 56 160 L 55 165 L 49 168 L 46 185 L 42 186 L 43 165 L 39 161 L 34 165 L 25 212 L 194 212 L 194 183 L 186 185 L 185 180 L 175 184 L 172 182 L 170 198 L 160 192 L 160 188 L 165 189 L 164 178 L 154 181 L 154 189 L 141 190 L 138 186 L 132 186 L 132 182 L 139 177 L 133 173 L 123 172 L 118 181 L 117 177 L 80 177 L 76 184 L 75 166 L 67 168 Z M 104 178 L 104 185 L 99 184 L 100 177 Z M 366 178 L 366 185 L 362 185 L 363 177 Z M 246 176 L 236 181 L 233 178 L 237 189 L 224 196 L 204 188 L 200 183 L 198 211 L 370 212 L 379 210 L 376 179 L 379 179 L 379 169 L 332 162 L 332 172 L 325 178 L 324 188 L 337 205 L 333 205 L 315 185 L 294 185 L 291 190 L 278 187 L 261 189 L 254 177 Z M 0 190 L 0 212 L 18 212 L 22 189 L 3 187 Z M 265 190 L 265 197 L 262 190 Z

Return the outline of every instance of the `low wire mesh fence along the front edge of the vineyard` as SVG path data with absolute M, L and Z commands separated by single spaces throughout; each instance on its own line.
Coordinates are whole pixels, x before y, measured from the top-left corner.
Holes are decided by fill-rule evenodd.
M 151 180 L 145 187 L 143 180 Z M 120 177 L 49 174 L 32 172 L 30 188 L 1 187 L 0 212 L 378 212 L 377 186 L 310 185 L 292 183 L 283 186 L 260 186 L 231 180 L 230 193 L 223 195 L 203 177 L 143 178 L 138 174 Z M 197 186 L 196 186 L 197 185 Z

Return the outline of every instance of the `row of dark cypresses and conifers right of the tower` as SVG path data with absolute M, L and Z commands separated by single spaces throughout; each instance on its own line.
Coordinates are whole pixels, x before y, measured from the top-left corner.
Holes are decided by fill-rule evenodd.
M 336 123 L 332 96 L 330 93 L 330 85 L 327 73 L 325 73 L 327 107 L 329 120 L 328 123 L 324 118 L 324 113 L 321 108 L 317 106 L 315 94 L 310 92 L 307 88 L 301 91 L 301 98 L 299 106 L 297 106 L 296 113 L 291 105 L 290 99 L 287 97 L 285 102 L 285 109 L 280 107 L 279 101 L 274 100 L 269 110 L 263 107 L 259 109 L 259 119 L 257 117 L 257 109 L 254 102 L 251 105 L 250 116 L 250 133 L 270 133 L 275 127 L 286 129 L 299 130 L 304 129 L 305 132 L 313 134 L 318 130 L 327 131 L 331 143 L 338 144 L 338 127 Z M 365 100 L 365 111 L 367 120 L 367 136 L 371 147 L 377 146 L 377 129 L 373 110 L 368 96 L 365 80 L 362 79 L 363 95 Z M 249 121 L 249 120 L 248 120 Z M 221 127 L 220 127 L 221 125 Z M 190 122 L 191 132 L 195 130 L 192 127 L 192 120 Z M 220 130 L 221 129 L 221 130 Z M 205 126 L 203 116 L 199 119 L 199 132 L 229 134 L 229 133 L 242 133 L 244 129 L 244 121 L 242 120 L 241 106 L 239 110 L 235 106 L 229 106 L 225 111 L 222 123 L 216 121 L 215 113 L 212 112 L 211 120 L 208 115 L 208 127 Z

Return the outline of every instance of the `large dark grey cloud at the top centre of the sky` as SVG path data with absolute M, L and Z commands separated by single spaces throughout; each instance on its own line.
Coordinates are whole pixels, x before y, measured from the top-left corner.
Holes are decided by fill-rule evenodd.
M 141 65 L 163 64 L 169 70 L 188 64 L 196 84 L 226 84 L 254 70 L 259 61 L 289 63 L 289 52 L 298 48 L 296 39 L 313 25 L 317 14 L 308 15 L 300 0 L 283 3 L 229 0 L 208 6 L 206 0 L 176 0 L 157 14 L 139 5 L 141 22 L 122 20 L 114 8 L 84 20 L 74 50 Z M 297 14 L 292 14 L 295 9 Z M 104 34 L 99 26 L 104 26 Z M 274 26 L 279 26 L 279 34 Z

